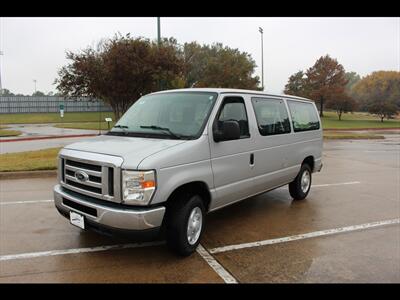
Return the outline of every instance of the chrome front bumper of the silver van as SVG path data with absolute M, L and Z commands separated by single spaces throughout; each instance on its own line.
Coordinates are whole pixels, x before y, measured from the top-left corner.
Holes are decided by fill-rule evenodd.
M 76 211 L 84 215 L 89 223 L 98 224 L 99 227 L 146 231 L 161 227 L 165 214 L 165 207 L 163 206 L 127 208 L 122 205 L 118 207 L 118 204 L 115 203 L 108 204 L 106 201 L 102 201 L 101 204 L 98 202 L 84 199 L 84 197 L 78 198 L 59 184 L 54 187 L 54 204 L 64 216 L 68 215 L 71 210 Z

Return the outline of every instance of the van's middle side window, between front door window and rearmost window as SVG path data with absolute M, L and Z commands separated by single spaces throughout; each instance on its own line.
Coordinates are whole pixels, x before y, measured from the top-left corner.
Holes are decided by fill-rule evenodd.
M 258 131 L 261 135 L 290 132 L 290 121 L 285 103 L 279 99 L 252 98 Z

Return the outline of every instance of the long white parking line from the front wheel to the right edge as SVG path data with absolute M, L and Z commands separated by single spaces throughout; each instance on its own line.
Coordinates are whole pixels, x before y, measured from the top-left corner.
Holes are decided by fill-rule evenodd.
M 236 244 L 236 245 L 217 247 L 217 248 L 210 249 L 209 252 L 211 254 L 214 254 L 214 253 L 221 253 L 221 252 L 239 250 L 239 249 L 244 249 L 244 248 L 254 248 L 254 247 L 260 247 L 260 246 L 266 246 L 266 245 L 272 245 L 272 244 L 279 244 L 279 243 L 286 243 L 286 242 L 291 242 L 291 241 L 309 239 L 309 238 L 313 238 L 313 237 L 338 234 L 338 233 L 343 233 L 343 232 L 363 230 L 363 229 L 380 227 L 380 226 L 391 225 L 391 224 L 400 224 L 400 218 L 372 222 L 372 223 L 365 223 L 365 224 L 361 224 L 361 225 L 353 225 L 353 226 L 347 226 L 347 227 L 314 231 L 314 232 L 309 232 L 309 233 L 292 235 L 292 236 L 277 238 L 277 239 L 257 241 L 257 242 L 252 242 L 252 243 L 244 243 L 244 244 Z

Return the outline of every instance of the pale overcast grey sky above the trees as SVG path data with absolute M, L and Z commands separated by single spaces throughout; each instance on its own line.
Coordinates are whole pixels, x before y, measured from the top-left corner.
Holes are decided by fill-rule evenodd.
M 179 43 L 222 42 L 246 51 L 261 75 L 264 29 L 266 90 L 282 93 L 288 77 L 329 54 L 346 71 L 361 76 L 377 70 L 400 71 L 400 18 L 161 18 L 161 35 Z M 65 51 L 94 46 L 115 33 L 157 37 L 156 18 L 1 18 L 3 88 L 32 94 L 33 80 L 45 93 L 56 91 Z

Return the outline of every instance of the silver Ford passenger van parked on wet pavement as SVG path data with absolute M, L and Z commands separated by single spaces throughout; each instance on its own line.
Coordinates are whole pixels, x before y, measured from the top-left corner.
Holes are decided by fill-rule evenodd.
M 322 168 L 314 102 L 235 89 L 141 97 L 105 135 L 59 153 L 55 206 L 73 225 L 160 237 L 195 251 L 205 214 L 289 184 L 306 198 Z

